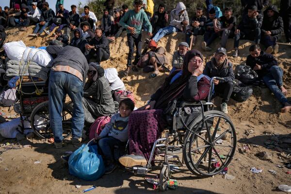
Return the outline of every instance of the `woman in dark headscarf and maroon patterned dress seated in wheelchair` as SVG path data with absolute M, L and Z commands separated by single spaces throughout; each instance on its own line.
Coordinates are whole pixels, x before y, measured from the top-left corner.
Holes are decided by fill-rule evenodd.
M 163 110 L 174 99 L 195 102 L 204 100 L 210 92 L 210 79 L 202 74 L 203 55 L 198 50 L 186 53 L 182 70 L 169 75 L 145 106 L 129 116 L 129 153 L 119 158 L 126 166 L 144 166 L 150 158 L 154 142 L 167 126 Z

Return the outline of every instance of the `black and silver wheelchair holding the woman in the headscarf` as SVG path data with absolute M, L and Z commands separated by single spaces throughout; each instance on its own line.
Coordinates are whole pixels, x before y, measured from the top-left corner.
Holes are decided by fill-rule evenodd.
M 154 142 L 146 166 L 126 167 L 127 170 L 136 175 L 147 175 L 157 149 L 163 150 L 159 189 L 165 191 L 167 181 L 174 173 L 170 164 L 173 159 L 177 159 L 182 166 L 186 165 L 188 170 L 201 178 L 212 177 L 226 169 L 235 154 L 236 132 L 231 119 L 225 113 L 213 110 L 211 97 L 214 79 L 221 80 L 217 77 L 210 80 L 210 94 L 207 101 L 177 103 L 170 119 L 172 125 L 166 130 L 165 137 Z M 200 113 L 185 119 L 182 111 L 185 108 L 199 108 Z M 176 155 L 180 152 L 182 152 L 182 161 Z

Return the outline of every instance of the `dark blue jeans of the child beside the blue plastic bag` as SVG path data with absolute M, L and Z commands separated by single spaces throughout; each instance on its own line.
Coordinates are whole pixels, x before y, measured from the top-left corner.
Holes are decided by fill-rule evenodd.
M 123 146 L 125 142 L 121 142 L 113 137 L 104 137 L 99 140 L 98 145 L 103 153 L 106 162 L 113 162 L 114 146 Z

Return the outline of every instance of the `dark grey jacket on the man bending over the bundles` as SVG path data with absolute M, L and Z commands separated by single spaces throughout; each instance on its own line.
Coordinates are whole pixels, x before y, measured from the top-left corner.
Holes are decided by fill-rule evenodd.
M 69 65 L 73 67 L 83 75 L 83 84 L 85 84 L 89 65 L 86 57 L 79 48 L 71 46 L 48 46 L 47 51 L 53 56 L 57 55 L 51 64 L 52 67 L 55 65 Z

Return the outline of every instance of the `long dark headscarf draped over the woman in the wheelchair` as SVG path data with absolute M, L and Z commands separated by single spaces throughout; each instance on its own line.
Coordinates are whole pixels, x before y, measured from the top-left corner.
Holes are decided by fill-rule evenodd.
M 191 72 L 188 71 L 188 64 L 189 64 L 189 61 L 195 56 L 200 57 L 201 60 L 203 61 L 203 55 L 201 54 L 199 50 L 196 50 L 196 49 L 190 50 L 186 53 L 185 58 L 184 58 L 182 76 L 179 77 L 172 84 L 170 84 L 170 81 L 179 72 L 179 70 L 174 71 L 171 75 L 169 75 L 166 78 L 164 84 L 162 85 L 163 93 L 159 97 L 159 99 L 156 101 L 155 109 L 166 108 L 168 102 L 182 95 L 186 87 L 186 84 L 190 76 L 192 75 Z

